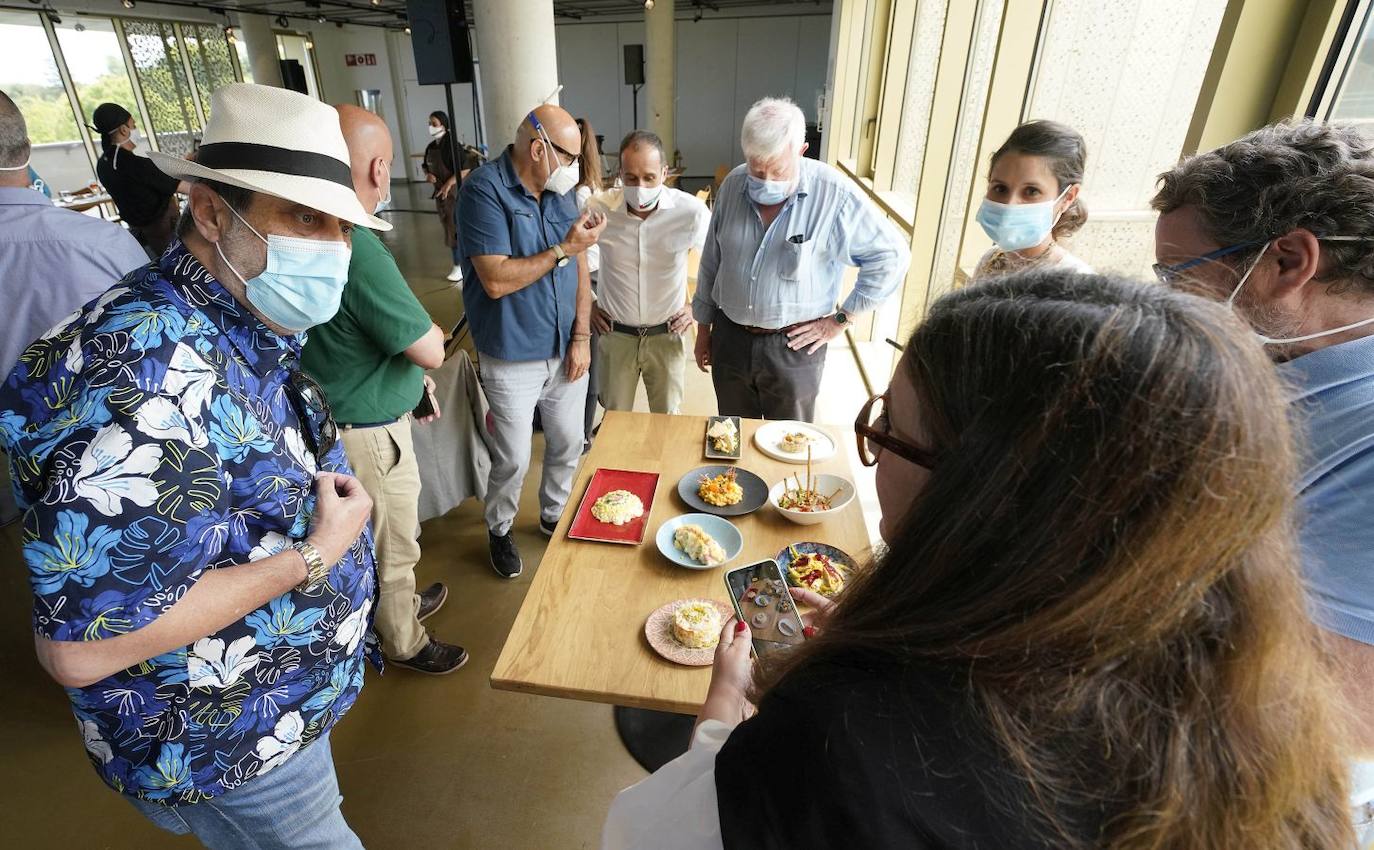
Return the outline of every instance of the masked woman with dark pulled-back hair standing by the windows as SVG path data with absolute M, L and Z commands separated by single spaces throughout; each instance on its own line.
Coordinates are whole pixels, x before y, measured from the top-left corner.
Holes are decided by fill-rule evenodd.
M 1059 244 L 1088 221 L 1080 198 L 1087 155 L 1079 130 L 1057 121 L 1011 130 L 992 154 L 978 224 L 995 244 L 978 260 L 973 280 L 1047 266 L 1092 271 Z

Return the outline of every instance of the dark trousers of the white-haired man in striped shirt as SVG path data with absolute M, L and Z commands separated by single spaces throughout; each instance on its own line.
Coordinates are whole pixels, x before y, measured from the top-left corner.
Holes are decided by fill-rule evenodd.
M 827 349 L 793 352 L 786 334 L 750 334 L 717 312 L 710 325 L 710 380 L 720 415 L 811 422 Z

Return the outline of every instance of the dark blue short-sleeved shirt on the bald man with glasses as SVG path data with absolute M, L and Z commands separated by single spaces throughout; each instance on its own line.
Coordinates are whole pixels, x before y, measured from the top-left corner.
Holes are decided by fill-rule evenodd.
M 463 308 L 477 350 L 497 360 L 561 358 L 577 309 L 577 264 L 554 268 L 504 298 L 492 298 L 473 257 L 533 257 L 562 242 L 577 221 L 573 192 L 530 195 L 515 174 L 511 148 L 463 180 L 458 195 L 458 251 Z

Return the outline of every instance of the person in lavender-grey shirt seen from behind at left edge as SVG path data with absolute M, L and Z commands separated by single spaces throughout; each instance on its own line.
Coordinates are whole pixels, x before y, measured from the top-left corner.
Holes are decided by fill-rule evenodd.
M 148 262 L 133 236 L 95 216 L 59 210 L 30 188 L 23 114 L 0 92 L 0 376 L 30 342 Z

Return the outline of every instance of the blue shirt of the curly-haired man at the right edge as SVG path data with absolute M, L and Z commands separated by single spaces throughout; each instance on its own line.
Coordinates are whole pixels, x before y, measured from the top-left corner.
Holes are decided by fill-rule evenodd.
M 1374 336 L 1279 368 L 1307 437 L 1300 542 L 1314 617 L 1374 644 Z

